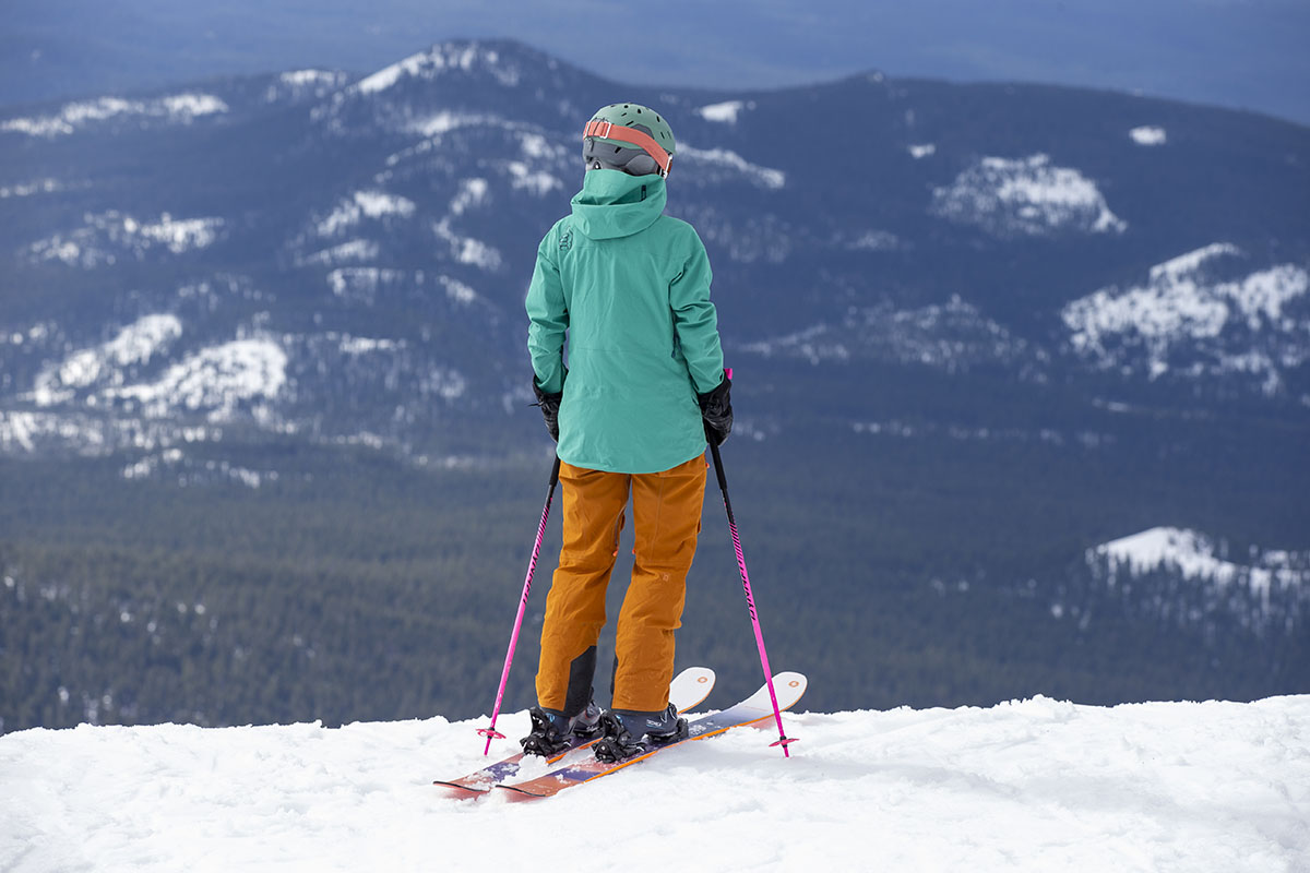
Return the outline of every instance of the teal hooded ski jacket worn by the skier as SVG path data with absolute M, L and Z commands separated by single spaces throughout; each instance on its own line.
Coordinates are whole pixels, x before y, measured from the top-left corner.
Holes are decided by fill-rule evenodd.
M 710 260 L 667 196 L 659 177 L 590 170 L 537 247 L 528 352 L 541 390 L 563 389 L 574 466 L 658 472 L 705 452 L 696 395 L 723 381 Z

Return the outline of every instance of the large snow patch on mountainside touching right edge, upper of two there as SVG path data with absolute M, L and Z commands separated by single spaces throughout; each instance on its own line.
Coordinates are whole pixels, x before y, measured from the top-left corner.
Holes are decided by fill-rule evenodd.
M 1244 254 L 1216 242 L 1150 268 L 1145 284 L 1102 288 L 1062 312 L 1074 352 L 1100 369 L 1159 378 L 1255 376 L 1276 394 L 1310 360 L 1310 272 L 1234 272 Z

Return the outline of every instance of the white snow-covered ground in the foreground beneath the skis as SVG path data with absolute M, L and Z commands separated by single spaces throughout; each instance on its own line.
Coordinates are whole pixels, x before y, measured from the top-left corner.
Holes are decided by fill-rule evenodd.
M 0 870 L 1310 869 L 1310 696 L 786 721 L 790 760 L 736 730 L 525 804 L 428 784 L 486 719 L 26 730 Z

